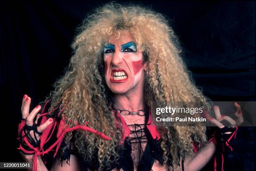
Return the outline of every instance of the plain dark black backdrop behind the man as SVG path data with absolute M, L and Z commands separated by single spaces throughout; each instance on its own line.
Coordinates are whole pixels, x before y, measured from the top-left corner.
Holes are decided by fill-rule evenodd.
M 255 101 L 255 2 L 138 3 L 169 18 L 192 77 L 206 96 L 212 101 Z M 32 98 L 33 108 L 44 101 L 69 63 L 75 28 L 88 11 L 103 4 L 1 2 L 1 162 L 22 161 L 15 138 L 23 94 Z M 233 146 L 226 170 L 254 170 L 254 128 L 240 127 Z

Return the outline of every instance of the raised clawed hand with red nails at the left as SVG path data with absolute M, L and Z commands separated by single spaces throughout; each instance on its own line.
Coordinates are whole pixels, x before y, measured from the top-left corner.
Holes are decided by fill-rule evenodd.
M 22 100 L 22 106 L 21 106 L 21 113 L 22 113 L 22 119 L 26 120 L 26 125 L 24 126 L 24 131 L 26 133 L 26 137 L 31 143 L 32 146 L 36 147 L 39 145 L 40 135 L 41 132 L 44 131 L 49 125 L 51 125 L 53 119 L 49 118 L 44 124 L 38 126 L 38 118 L 40 117 L 40 114 L 36 116 L 36 113 L 38 113 L 41 109 L 41 106 L 38 105 L 36 108 L 33 108 L 31 113 L 29 113 L 31 98 L 27 95 L 23 96 Z M 36 116 L 36 121 L 33 123 L 34 118 Z

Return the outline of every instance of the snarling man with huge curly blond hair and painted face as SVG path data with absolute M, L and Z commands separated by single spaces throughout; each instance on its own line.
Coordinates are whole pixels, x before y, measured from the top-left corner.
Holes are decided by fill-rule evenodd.
M 149 107 L 156 102 L 207 105 L 177 47 L 160 14 L 112 3 L 97 9 L 72 44 L 69 70 L 46 100 L 48 112 L 36 115 L 37 106 L 29 113 L 31 98 L 23 98 L 19 132 L 24 159 L 33 161 L 33 170 L 47 170 L 38 156 L 54 149 L 51 170 L 200 170 L 215 153 L 215 139 L 207 143 L 205 127 L 151 122 Z M 208 119 L 220 128 L 222 120 L 235 127 L 243 122 L 235 106 L 237 121 L 221 117 L 218 107 L 216 119 Z M 45 148 L 54 130 L 56 143 Z M 228 129 L 228 139 L 236 130 Z

